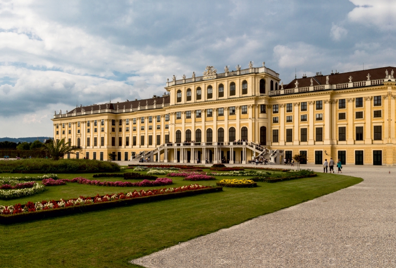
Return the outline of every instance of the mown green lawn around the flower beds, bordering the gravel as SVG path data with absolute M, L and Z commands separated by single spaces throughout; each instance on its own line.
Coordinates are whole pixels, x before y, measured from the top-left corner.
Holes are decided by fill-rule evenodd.
M 77 177 L 71 174 L 58 176 L 61 179 Z M 93 179 L 92 174 L 84 174 L 82 177 Z M 173 184 L 159 188 L 195 183 L 184 181 L 183 178 L 172 179 Z M 214 185 L 220 179 L 242 177 L 216 177 L 216 180 L 197 183 Z M 258 182 L 256 188 L 224 188 L 223 192 L 218 193 L 36 222 L 0 225 L 0 263 L 5 267 L 138 267 L 128 264 L 128 261 L 332 193 L 360 181 L 362 179 L 338 174 L 318 174 L 313 178 L 277 183 Z M 79 195 L 95 196 L 97 193 L 126 192 L 141 188 L 67 183 L 63 186 L 51 186 L 48 191 L 34 196 L 0 200 L 0 205 L 24 203 L 28 200 L 73 198 Z

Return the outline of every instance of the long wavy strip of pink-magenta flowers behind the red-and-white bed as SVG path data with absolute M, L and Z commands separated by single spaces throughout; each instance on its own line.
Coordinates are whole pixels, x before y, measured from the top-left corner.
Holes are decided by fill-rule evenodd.
M 100 180 L 90 180 L 90 179 L 85 179 L 82 177 L 74 178 L 74 179 L 58 179 L 58 180 L 53 180 L 50 181 L 50 185 L 46 186 L 51 186 L 51 185 L 62 185 L 65 184 L 65 182 L 77 182 L 80 184 L 86 184 L 86 185 L 96 185 L 96 186 L 111 186 L 111 187 L 147 187 L 147 186 L 162 186 L 162 185 L 169 185 L 172 184 L 172 179 L 168 178 L 157 178 L 154 181 L 144 179 L 142 181 L 138 182 L 130 182 L 130 181 L 100 181 Z M 44 181 L 43 181 L 44 184 Z

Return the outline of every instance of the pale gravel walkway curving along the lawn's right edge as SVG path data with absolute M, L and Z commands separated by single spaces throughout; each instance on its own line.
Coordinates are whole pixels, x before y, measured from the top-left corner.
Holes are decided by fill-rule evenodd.
M 343 170 L 364 181 L 132 263 L 147 268 L 396 267 L 396 168 Z

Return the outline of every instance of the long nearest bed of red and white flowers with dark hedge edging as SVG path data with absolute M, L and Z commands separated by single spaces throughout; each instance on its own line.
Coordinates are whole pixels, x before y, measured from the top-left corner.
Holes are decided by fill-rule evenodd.
M 103 196 L 73 198 L 69 200 L 50 200 L 27 202 L 14 206 L 0 206 L 0 223 L 17 223 L 48 217 L 64 216 L 74 213 L 94 211 L 118 206 L 132 205 L 150 201 L 165 200 L 175 197 L 191 196 L 200 193 L 221 191 L 221 187 L 202 186 L 198 184 L 177 188 L 141 190 L 128 193 L 106 194 Z

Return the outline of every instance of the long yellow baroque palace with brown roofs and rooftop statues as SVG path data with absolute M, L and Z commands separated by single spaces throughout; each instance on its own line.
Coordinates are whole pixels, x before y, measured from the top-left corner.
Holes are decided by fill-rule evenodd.
M 267 68 L 183 75 L 149 99 L 76 107 L 54 115 L 53 136 L 76 146 L 77 157 L 98 160 L 396 164 L 394 67 L 316 73 L 288 85 Z M 115 156 L 115 157 L 114 157 Z

